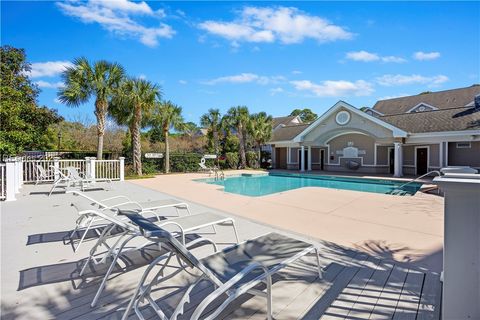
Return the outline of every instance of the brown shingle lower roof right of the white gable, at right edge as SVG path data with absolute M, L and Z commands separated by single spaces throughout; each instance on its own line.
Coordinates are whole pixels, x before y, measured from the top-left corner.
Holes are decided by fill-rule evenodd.
M 451 108 L 378 117 L 409 133 L 480 130 L 480 109 Z

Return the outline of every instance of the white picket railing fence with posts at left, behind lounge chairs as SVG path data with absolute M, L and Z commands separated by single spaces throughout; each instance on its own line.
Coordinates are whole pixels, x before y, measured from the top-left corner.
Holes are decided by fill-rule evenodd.
M 19 192 L 21 185 L 25 183 L 35 183 L 39 180 L 40 169 L 44 169 L 46 176 L 41 181 L 55 181 L 58 177 L 54 175 L 54 169 L 66 171 L 68 167 L 74 167 L 83 176 L 90 179 L 101 180 L 120 180 L 125 179 L 125 158 L 118 160 L 96 160 L 93 157 L 79 159 L 59 159 L 53 160 L 23 160 L 15 157 L 6 159 L 5 163 L 0 164 L 0 200 L 13 201 L 15 194 Z

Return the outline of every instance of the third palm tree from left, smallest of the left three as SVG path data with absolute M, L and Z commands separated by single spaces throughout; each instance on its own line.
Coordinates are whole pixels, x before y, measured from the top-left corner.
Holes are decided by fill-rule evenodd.
M 170 129 L 182 130 L 184 120 L 182 117 L 182 107 L 177 106 L 171 101 L 162 101 L 159 104 L 157 115 L 154 120 L 155 125 L 159 126 L 165 139 L 165 173 L 170 172 L 170 146 L 168 135 Z

